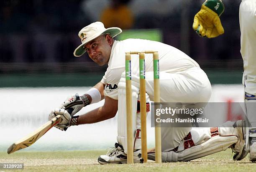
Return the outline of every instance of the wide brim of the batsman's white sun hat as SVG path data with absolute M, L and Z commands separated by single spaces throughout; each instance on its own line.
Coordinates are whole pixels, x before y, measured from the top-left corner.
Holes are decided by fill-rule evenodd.
M 113 28 L 107 28 L 104 32 L 102 33 L 99 33 L 95 36 L 93 36 L 92 38 L 88 39 L 86 42 L 82 43 L 80 46 L 78 46 L 75 50 L 74 50 L 74 56 L 76 57 L 80 57 L 82 56 L 86 51 L 85 51 L 85 48 L 84 48 L 84 45 L 87 44 L 88 42 L 90 42 L 91 40 L 97 38 L 98 36 L 102 35 L 102 34 L 105 34 L 105 33 L 109 33 L 110 36 L 112 38 L 114 38 L 116 35 L 120 34 L 122 32 L 122 30 L 120 28 L 116 28 L 116 27 L 113 27 Z

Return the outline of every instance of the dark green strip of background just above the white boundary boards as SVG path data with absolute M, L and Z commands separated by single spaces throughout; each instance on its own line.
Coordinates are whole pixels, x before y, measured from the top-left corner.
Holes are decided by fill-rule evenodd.
M 243 71 L 206 70 L 212 84 L 241 83 Z M 5 74 L 0 75 L 0 87 L 56 87 L 56 86 L 94 86 L 103 73 L 67 74 Z

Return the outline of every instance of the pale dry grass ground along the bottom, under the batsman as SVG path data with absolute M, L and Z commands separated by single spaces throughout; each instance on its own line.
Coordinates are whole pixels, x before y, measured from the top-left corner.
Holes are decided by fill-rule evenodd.
M 195 159 L 190 162 L 173 162 L 155 164 L 148 161 L 144 164 L 108 164 L 97 162 L 100 154 L 106 151 L 63 151 L 63 152 L 15 152 L 8 155 L 0 152 L 0 163 L 24 163 L 24 171 L 87 171 L 87 172 L 255 172 L 256 163 L 247 158 L 240 162 L 232 159 L 232 152 L 227 151 Z M 3 170 L 0 169 L 0 172 Z M 8 172 L 17 170 L 6 170 Z

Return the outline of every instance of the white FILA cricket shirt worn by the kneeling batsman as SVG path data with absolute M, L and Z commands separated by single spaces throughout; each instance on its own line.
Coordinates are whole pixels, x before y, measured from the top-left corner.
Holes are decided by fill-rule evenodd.
M 199 67 L 197 62 L 185 53 L 164 43 L 142 39 L 115 40 L 107 71 L 101 80 L 101 82 L 105 84 L 105 96 L 116 100 L 118 99 L 118 82 L 121 78 L 121 74 L 125 71 L 125 52 L 141 52 L 147 50 L 159 52 L 159 71 L 177 73 L 195 66 Z M 153 71 L 152 54 L 145 54 L 145 66 L 146 72 Z M 132 75 L 139 76 L 138 55 L 131 55 L 131 73 Z

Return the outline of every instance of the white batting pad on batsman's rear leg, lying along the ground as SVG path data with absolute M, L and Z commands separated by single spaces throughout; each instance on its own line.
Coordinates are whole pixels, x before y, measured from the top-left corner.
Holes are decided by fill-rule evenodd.
M 228 149 L 238 142 L 238 129 L 233 128 L 234 122 L 227 121 L 219 127 L 220 135 L 211 137 L 210 128 L 192 128 L 190 131 L 195 146 L 184 149 L 184 140 L 177 151 L 162 152 L 162 162 L 190 161 Z M 148 154 L 154 159 L 155 154 Z

